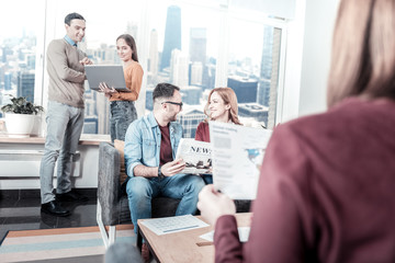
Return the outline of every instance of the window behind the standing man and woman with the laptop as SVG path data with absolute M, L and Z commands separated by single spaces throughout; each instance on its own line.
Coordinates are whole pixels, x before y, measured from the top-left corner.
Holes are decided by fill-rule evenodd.
M 64 19 L 70 12 L 80 13 L 87 21 L 86 36 L 79 48 L 87 53 L 95 65 L 120 65 L 116 55 L 116 37 L 128 33 L 138 43 L 142 1 L 112 1 L 111 4 L 102 5 L 100 2 L 70 0 L 56 2 L 55 37 L 60 38 L 66 34 Z M 105 12 L 99 12 L 105 9 Z M 49 11 L 48 11 L 49 12 Z M 137 52 L 139 53 L 137 45 Z M 139 55 L 139 54 L 138 54 Z M 86 81 L 86 119 L 84 134 L 110 134 L 110 103 L 100 92 L 89 89 Z

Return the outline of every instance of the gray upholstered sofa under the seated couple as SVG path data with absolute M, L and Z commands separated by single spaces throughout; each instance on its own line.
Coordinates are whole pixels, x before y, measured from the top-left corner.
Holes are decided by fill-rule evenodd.
M 108 248 L 115 241 L 116 225 L 131 224 L 131 211 L 124 185 L 120 182 L 120 152 L 110 142 L 99 146 L 98 211 L 97 221 Z M 153 217 L 173 216 L 180 199 L 153 199 Z M 236 201 L 238 213 L 249 211 L 249 201 Z

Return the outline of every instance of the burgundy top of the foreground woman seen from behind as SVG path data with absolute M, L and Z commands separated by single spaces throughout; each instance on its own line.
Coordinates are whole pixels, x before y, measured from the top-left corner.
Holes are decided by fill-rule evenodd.
M 348 99 L 274 129 L 249 241 L 233 216 L 216 262 L 395 262 L 395 102 Z

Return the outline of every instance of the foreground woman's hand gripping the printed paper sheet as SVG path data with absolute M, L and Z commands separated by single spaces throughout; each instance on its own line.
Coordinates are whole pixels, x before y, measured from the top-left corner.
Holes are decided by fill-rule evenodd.
M 210 225 L 215 226 L 216 220 L 224 215 L 235 215 L 235 203 L 226 195 L 217 192 L 213 184 L 208 184 L 199 193 L 198 208 Z

